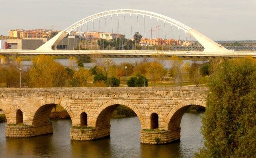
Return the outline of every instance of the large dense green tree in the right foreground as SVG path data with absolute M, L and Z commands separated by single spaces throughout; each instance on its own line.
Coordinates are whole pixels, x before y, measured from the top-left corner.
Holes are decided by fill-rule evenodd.
M 224 60 L 210 75 L 202 133 L 205 147 L 197 158 L 256 155 L 256 59 Z

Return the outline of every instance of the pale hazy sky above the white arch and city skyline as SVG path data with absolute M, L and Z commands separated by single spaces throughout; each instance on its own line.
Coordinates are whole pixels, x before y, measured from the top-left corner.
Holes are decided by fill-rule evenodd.
M 213 40 L 255 40 L 256 0 L 0 0 L 0 35 L 9 29 L 65 29 L 114 9 L 163 14 Z

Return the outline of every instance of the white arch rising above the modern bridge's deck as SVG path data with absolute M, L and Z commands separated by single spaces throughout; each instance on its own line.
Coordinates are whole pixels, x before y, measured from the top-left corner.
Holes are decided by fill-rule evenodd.
M 167 16 L 164 16 L 162 14 L 157 14 L 154 12 L 144 11 L 144 10 L 130 10 L 130 9 L 120 9 L 120 10 L 109 10 L 106 12 L 101 12 L 98 14 L 94 14 L 92 16 L 88 16 L 87 18 L 84 18 L 73 25 L 66 28 L 64 31 L 61 31 L 59 34 L 57 34 L 55 37 L 47 41 L 45 44 L 43 44 L 41 47 L 39 47 L 38 51 L 53 51 L 55 50 L 57 44 L 68 34 L 70 31 L 75 30 L 76 28 L 90 22 L 96 19 L 100 19 L 102 17 L 106 16 L 112 16 L 112 15 L 118 15 L 118 14 L 136 14 L 136 15 L 143 15 L 143 16 L 149 16 L 150 18 L 156 18 L 158 20 L 162 20 L 166 23 L 170 23 L 171 25 L 174 25 L 178 27 L 178 29 L 182 29 L 185 32 L 190 33 L 197 41 L 205 48 L 203 52 L 212 52 L 212 53 L 227 53 L 232 52 L 224 48 L 223 46 L 219 45 L 218 43 L 214 42 L 213 40 L 209 39 L 205 35 L 199 33 L 195 29 L 192 29 L 191 27 L 188 27 L 187 25 L 184 25 L 183 23 L 174 20 L 172 18 L 169 18 Z

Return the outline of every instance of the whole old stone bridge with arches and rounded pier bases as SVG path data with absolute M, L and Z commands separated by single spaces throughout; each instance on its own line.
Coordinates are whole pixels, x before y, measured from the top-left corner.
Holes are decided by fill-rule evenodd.
M 182 115 L 191 105 L 206 106 L 205 87 L 179 88 L 0 88 L 6 137 L 53 133 L 49 115 L 61 105 L 71 117 L 72 140 L 110 136 L 110 118 L 118 105 L 132 109 L 141 123 L 141 143 L 180 139 Z

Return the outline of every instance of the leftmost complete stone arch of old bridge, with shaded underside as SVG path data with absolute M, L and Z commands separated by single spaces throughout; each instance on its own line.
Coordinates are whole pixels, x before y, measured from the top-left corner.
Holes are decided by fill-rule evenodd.
M 35 113 L 33 113 L 32 125 L 38 125 L 38 124 L 48 122 L 51 110 L 56 105 L 60 105 L 68 112 L 68 114 L 70 115 L 71 121 L 73 123 L 74 115 L 71 109 L 67 106 L 66 101 L 53 98 L 53 99 L 47 99 L 47 101 L 41 101 L 40 104 L 41 104 L 40 107 L 35 110 Z

